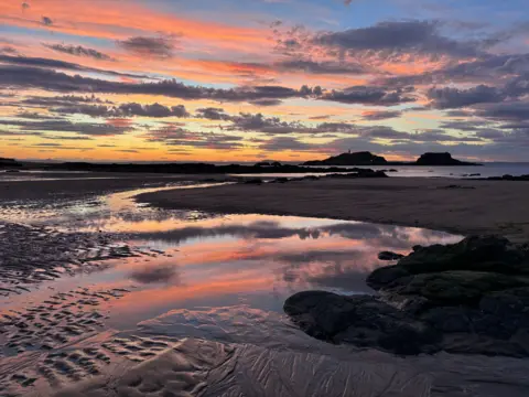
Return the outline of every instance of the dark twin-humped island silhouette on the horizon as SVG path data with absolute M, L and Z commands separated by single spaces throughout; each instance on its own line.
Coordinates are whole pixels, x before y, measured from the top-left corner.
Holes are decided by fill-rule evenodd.
M 306 161 L 303 165 L 482 165 L 452 158 L 450 153 L 424 153 L 417 161 L 388 161 L 368 151 L 342 153 L 325 160 Z

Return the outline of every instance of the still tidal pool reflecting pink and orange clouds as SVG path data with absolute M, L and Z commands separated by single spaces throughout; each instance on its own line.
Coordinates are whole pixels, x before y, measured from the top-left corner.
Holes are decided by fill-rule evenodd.
M 246 305 L 280 313 L 284 300 L 302 290 L 371 292 L 365 278 L 387 265 L 377 258 L 380 250 L 408 254 L 414 245 L 462 238 L 349 221 L 159 211 L 134 203 L 132 197 L 144 191 L 76 202 L 35 221 L 63 232 L 111 233 L 138 256 L 47 282 L 6 303 L 17 309 L 29 299 L 79 287 L 128 289 L 130 293 L 100 308 L 109 315 L 108 325 L 120 330 L 176 309 Z

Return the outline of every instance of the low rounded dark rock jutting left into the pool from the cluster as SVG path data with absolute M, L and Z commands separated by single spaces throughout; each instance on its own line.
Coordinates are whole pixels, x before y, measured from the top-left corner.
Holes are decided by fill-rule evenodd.
M 441 348 L 441 334 L 433 328 L 370 296 L 299 292 L 287 299 L 284 311 L 309 335 L 331 343 L 402 355 Z

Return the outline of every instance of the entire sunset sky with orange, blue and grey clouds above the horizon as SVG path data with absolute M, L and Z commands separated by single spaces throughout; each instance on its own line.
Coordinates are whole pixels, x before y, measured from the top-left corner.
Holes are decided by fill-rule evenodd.
M 526 1 L 0 1 L 0 157 L 529 161 Z

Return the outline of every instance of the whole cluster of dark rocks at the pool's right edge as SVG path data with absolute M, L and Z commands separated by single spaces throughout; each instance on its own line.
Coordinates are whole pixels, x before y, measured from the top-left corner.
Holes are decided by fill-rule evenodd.
M 307 334 L 402 355 L 529 356 L 529 246 L 496 236 L 413 247 L 369 275 L 379 296 L 305 291 L 284 311 Z

